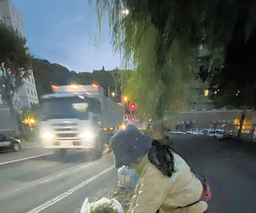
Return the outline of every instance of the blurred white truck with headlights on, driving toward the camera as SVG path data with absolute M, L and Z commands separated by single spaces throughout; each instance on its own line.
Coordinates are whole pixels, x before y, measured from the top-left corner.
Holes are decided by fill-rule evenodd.
M 100 157 L 114 130 L 123 124 L 124 109 L 104 96 L 96 83 L 52 85 L 41 97 L 40 138 L 44 148 L 65 153 L 85 149 Z

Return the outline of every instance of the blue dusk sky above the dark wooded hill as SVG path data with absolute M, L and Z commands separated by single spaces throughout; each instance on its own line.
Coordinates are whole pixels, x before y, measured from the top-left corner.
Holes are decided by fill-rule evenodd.
M 66 66 L 70 71 L 92 72 L 119 67 L 108 28 L 99 49 L 90 45 L 96 34 L 96 12 L 88 0 L 12 0 L 23 16 L 32 55 Z M 107 26 L 107 24 L 106 24 Z

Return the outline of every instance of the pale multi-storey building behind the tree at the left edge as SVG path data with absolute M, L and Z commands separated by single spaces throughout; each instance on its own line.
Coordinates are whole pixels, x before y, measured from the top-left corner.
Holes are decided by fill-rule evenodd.
M 24 22 L 20 11 L 11 0 L 0 0 L 0 21 L 7 26 L 13 26 L 20 35 L 26 37 Z M 14 97 L 14 107 L 20 112 L 22 107 L 38 105 L 38 93 L 32 70 L 28 78 L 23 79 L 23 84 Z M 17 113 L 18 115 L 18 113 Z M 12 134 L 14 127 L 7 102 L 0 95 L 0 133 Z

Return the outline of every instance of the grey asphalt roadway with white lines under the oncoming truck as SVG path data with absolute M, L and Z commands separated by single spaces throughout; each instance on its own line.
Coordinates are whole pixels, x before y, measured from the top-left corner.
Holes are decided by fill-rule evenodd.
M 44 148 L 0 154 L 0 212 L 79 212 L 117 183 L 113 155 L 93 161 L 85 152 L 64 158 Z

